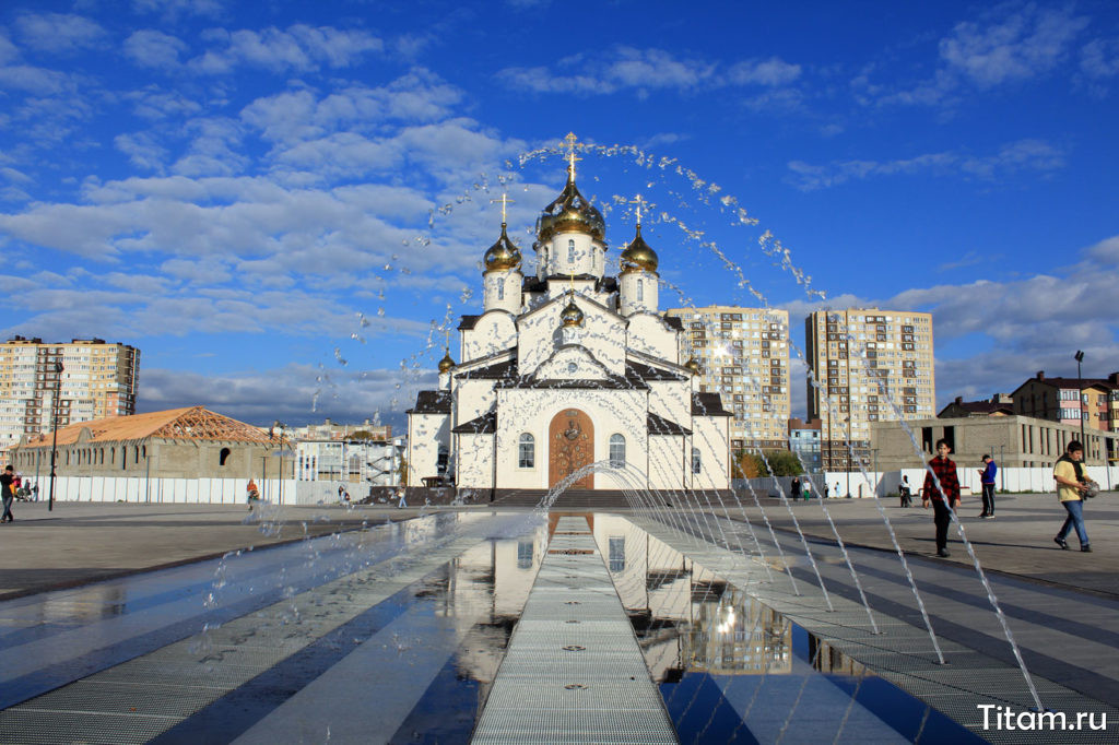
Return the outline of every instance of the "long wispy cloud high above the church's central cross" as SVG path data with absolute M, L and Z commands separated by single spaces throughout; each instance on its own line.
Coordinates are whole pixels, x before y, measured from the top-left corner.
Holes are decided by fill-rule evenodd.
M 680 58 L 664 49 L 622 46 L 601 56 L 575 55 L 561 59 L 555 70 L 507 67 L 498 73 L 498 78 L 510 87 L 536 93 L 610 94 L 624 88 L 686 92 L 700 87 L 780 86 L 792 83 L 800 73 L 799 65 L 777 57 L 743 60 L 724 68 L 697 58 Z

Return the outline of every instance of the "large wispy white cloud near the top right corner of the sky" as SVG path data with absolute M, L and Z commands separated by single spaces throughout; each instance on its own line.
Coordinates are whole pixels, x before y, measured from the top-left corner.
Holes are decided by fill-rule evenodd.
M 952 36 L 941 39 L 940 57 L 950 69 L 989 88 L 1051 70 L 1088 22 L 1068 7 L 1031 3 L 988 25 L 958 23 Z

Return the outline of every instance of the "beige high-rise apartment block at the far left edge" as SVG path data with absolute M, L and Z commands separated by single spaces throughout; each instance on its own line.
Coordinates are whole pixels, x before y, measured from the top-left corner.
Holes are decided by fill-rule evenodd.
M 0 343 L 0 449 L 25 434 L 49 432 L 54 415 L 64 427 L 135 414 L 139 366 L 139 349 L 104 339 L 43 343 L 13 337 Z

